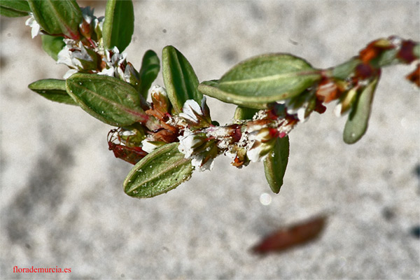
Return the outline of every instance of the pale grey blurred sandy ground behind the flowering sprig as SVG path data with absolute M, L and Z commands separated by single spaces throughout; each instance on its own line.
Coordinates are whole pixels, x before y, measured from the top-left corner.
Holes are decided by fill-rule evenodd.
M 90 1 L 97 15 L 103 3 Z M 82 4 L 84 5 L 84 4 Z M 419 1 L 135 1 L 128 60 L 181 50 L 200 80 L 237 62 L 290 52 L 316 67 L 356 55 L 370 41 L 420 39 Z M 370 127 L 342 141 L 334 105 L 290 134 L 279 195 L 262 164 L 211 172 L 148 200 L 125 195 L 131 165 L 107 150 L 108 125 L 27 89 L 61 78 L 31 39 L 26 18 L 1 18 L 1 279 L 419 279 L 419 92 L 409 66 L 384 69 Z M 156 81 L 162 83 L 160 76 Z M 211 99 L 212 117 L 235 106 Z M 260 203 L 269 194 L 271 203 Z M 249 249 L 272 230 L 318 214 L 318 241 L 261 258 Z M 68 267 L 15 274 L 13 267 Z

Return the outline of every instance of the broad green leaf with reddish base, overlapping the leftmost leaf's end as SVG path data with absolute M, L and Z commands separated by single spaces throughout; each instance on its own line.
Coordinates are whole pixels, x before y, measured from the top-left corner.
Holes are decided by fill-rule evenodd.
M 149 118 L 134 87 L 118 78 L 76 73 L 66 80 L 66 91 L 83 110 L 109 125 L 123 127 Z

